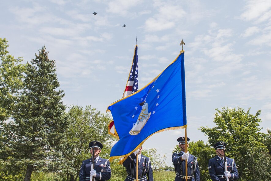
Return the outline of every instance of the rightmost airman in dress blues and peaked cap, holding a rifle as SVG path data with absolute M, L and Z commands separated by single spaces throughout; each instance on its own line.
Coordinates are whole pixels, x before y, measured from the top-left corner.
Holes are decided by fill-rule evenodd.
M 238 170 L 236 168 L 236 164 L 234 159 L 228 158 L 226 156 L 227 161 L 227 172 L 224 172 L 224 153 L 223 149 L 226 148 L 226 143 L 223 141 L 217 142 L 214 144 L 214 149 L 216 149 L 216 154 L 214 158 L 209 160 L 209 174 L 212 179 L 212 181 L 225 181 L 226 177 L 229 178 L 229 180 L 237 180 L 239 178 Z

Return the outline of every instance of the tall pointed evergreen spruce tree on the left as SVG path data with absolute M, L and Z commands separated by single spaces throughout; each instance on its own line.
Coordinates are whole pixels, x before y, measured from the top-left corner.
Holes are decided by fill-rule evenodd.
M 24 90 L 15 107 L 12 162 L 25 171 L 24 181 L 30 180 L 33 171 L 54 168 L 67 126 L 64 91 L 58 89 L 55 61 L 45 50 L 42 47 L 27 62 Z

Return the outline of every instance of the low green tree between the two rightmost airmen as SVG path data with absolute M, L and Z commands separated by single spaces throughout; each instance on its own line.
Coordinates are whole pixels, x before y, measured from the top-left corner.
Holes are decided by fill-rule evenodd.
M 208 172 L 209 159 L 216 155 L 216 152 L 208 144 L 204 144 L 204 141 L 191 141 L 189 142 L 188 149 L 190 154 L 198 157 L 198 164 L 200 170 L 200 180 L 206 181 L 210 179 Z M 172 153 L 179 153 L 181 149 L 179 145 L 176 145 Z

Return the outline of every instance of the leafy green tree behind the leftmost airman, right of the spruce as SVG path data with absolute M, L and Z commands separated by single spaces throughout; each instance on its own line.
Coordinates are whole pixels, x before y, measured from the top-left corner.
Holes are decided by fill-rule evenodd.
M 108 114 L 102 114 L 91 106 L 83 109 L 74 105 L 70 107 L 68 114 L 70 124 L 65 130 L 62 176 L 65 176 L 67 181 L 75 181 L 78 179 L 82 161 L 92 157 L 88 143 L 101 142 L 103 149 L 100 156 L 109 159 L 111 143 L 115 138 L 108 134 L 107 124 L 112 119 Z

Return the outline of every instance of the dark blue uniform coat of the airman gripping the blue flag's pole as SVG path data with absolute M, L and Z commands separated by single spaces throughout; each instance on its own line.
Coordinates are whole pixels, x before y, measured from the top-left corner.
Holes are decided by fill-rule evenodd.
M 183 152 L 173 153 L 172 162 L 175 167 L 176 177 L 175 181 L 185 181 L 185 160 L 181 161 Z M 187 160 L 187 175 L 188 181 L 200 181 L 200 172 L 198 167 L 198 158 L 189 153 Z

